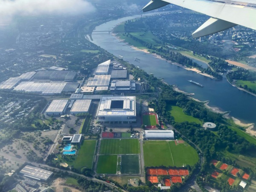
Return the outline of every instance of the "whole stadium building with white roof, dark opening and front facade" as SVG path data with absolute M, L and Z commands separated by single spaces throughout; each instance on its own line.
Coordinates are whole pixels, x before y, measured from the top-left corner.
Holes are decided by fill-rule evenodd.
M 96 116 L 102 123 L 136 122 L 135 96 L 102 97 Z

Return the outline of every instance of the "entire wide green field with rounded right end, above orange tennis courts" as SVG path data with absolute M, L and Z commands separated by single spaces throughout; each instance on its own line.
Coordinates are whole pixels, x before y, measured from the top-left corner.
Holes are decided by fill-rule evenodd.
M 187 143 L 175 144 L 174 141 L 144 141 L 145 166 L 194 165 L 198 162 L 198 154 Z

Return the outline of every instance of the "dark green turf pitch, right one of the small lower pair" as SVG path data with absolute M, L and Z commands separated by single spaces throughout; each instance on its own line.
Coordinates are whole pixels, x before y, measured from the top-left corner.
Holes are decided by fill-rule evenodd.
M 122 155 L 121 161 L 122 174 L 139 174 L 139 156 L 138 155 Z

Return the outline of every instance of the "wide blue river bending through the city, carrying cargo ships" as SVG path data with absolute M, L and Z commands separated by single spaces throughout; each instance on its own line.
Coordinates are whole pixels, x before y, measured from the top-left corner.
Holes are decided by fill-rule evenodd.
M 118 23 L 135 17 L 140 17 L 140 15 L 111 20 L 97 26 L 96 31 L 111 30 Z M 118 55 L 123 56 L 125 61 L 140 67 L 149 74 L 154 73 L 157 78 L 164 78 L 164 81 L 168 84 L 178 85 L 180 90 L 187 93 L 195 93 L 193 96 L 195 99 L 210 101 L 210 107 L 218 107 L 221 111 L 230 111 L 230 116 L 241 120 L 241 122 L 256 124 L 256 97 L 233 87 L 225 76 L 223 80 L 215 80 L 193 71 L 185 70 L 167 61 L 157 59 L 154 55 L 135 50 L 126 43 L 120 42 L 108 32 L 94 32 L 92 38 L 94 44 L 106 49 L 113 55 L 117 57 Z M 134 61 L 134 58 L 139 58 L 140 62 Z M 193 61 L 198 62 L 196 60 Z M 203 62 L 198 64 L 206 67 Z M 187 80 L 201 83 L 204 87 L 192 84 Z

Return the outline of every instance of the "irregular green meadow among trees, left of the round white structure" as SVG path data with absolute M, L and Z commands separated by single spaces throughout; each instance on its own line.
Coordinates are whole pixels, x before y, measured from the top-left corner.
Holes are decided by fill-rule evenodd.
M 167 111 L 169 111 L 169 113 L 171 113 L 171 116 L 174 117 L 175 122 L 187 121 L 187 122 L 195 122 L 202 125 L 202 122 L 200 119 L 197 119 L 190 115 L 186 115 L 185 113 L 183 113 L 183 109 L 178 106 L 168 105 Z

